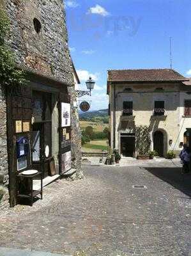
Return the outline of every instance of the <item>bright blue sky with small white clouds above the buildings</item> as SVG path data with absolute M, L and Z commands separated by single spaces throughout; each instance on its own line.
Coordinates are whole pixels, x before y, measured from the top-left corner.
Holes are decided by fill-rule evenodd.
M 191 77 L 190 0 L 67 0 L 69 45 L 80 77 L 96 80 L 91 109 L 108 106 L 107 70 L 172 68 Z

